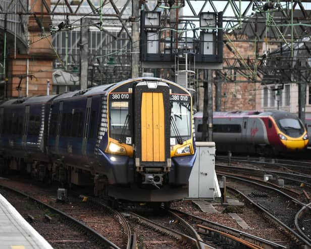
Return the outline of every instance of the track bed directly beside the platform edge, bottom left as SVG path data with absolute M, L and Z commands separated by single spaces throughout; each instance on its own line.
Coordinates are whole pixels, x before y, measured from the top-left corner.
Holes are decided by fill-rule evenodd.
M 24 192 L 3 185 L 1 187 L 1 193 L 54 248 L 120 248 L 63 211 Z

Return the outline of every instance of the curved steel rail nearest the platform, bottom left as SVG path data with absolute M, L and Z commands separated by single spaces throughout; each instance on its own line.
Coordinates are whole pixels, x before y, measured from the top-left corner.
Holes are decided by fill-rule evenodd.
M 32 200 L 32 201 L 34 201 L 34 202 L 36 202 L 36 203 L 42 205 L 43 207 L 46 207 L 46 208 L 48 208 L 48 209 L 50 209 L 50 210 L 53 210 L 54 212 L 56 212 L 56 213 L 62 215 L 62 216 L 65 217 L 66 219 L 70 220 L 71 222 L 78 224 L 85 232 L 91 234 L 91 235 L 94 236 L 98 241 L 100 241 L 100 243 L 103 243 L 103 244 L 105 244 L 106 246 L 109 246 L 110 248 L 116 248 L 116 249 L 119 249 L 119 248 L 120 248 L 119 246 L 117 246 L 116 244 L 114 244 L 113 242 L 111 242 L 109 239 L 107 239 L 106 237 L 102 236 L 101 234 L 99 234 L 98 232 L 96 232 L 94 229 L 92 229 L 92 228 L 86 226 L 86 225 L 83 224 L 82 222 L 76 220 L 76 219 L 73 218 L 72 216 L 67 215 L 66 213 L 64 213 L 64 212 L 62 212 L 62 211 L 60 211 L 60 210 L 58 210 L 58 209 L 56 209 L 56 208 L 54 208 L 54 207 L 52 207 L 52 206 L 50 206 L 50 205 L 48 205 L 48 204 L 45 204 L 45 203 L 43 203 L 43 202 L 37 200 L 36 198 L 31 197 L 30 195 L 28 195 L 28 194 L 26 194 L 26 193 L 24 193 L 24 192 L 21 192 L 21 191 L 19 191 L 19 190 L 17 190 L 17 189 L 14 189 L 14 188 L 11 188 L 11 187 L 8 187 L 8 186 L 4 186 L 4 185 L 1 185 L 1 184 L 0 184 L 0 186 L 3 187 L 3 188 L 9 189 L 9 190 L 11 190 L 11 191 L 14 191 L 14 192 L 16 192 L 16 193 L 19 193 L 19 194 L 21 194 L 21 195 L 23 195 L 23 196 L 26 196 L 26 197 L 29 198 L 30 200 Z

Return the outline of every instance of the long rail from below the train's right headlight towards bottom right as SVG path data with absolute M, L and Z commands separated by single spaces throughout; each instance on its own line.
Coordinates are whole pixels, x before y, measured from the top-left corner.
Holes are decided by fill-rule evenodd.
M 185 213 L 185 212 L 180 211 L 180 210 L 171 209 L 171 211 L 178 212 L 182 215 L 189 216 L 192 219 L 196 219 L 200 222 L 207 223 L 210 228 L 215 229 L 216 231 L 231 234 L 235 237 L 241 238 L 241 239 L 248 241 L 252 244 L 262 245 L 264 248 L 283 248 L 283 249 L 287 248 L 286 246 L 283 246 L 281 244 L 277 244 L 277 243 L 269 241 L 267 239 L 254 236 L 252 234 L 245 233 L 245 232 L 239 231 L 237 229 L 234 229 L 234 228 L 231 228 L 231 227 L 228 227 L 228 226 L 225 226 L 225 225 L 222 225 L 222 224 L 210 221 L 210 220 L 206 220 L 206 219 L 203 219 L 203 218 L 195 216 L 195 215 Z

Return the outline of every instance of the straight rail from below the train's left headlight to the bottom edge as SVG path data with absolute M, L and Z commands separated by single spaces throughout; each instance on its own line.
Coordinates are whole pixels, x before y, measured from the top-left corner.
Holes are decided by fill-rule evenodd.
M 146 218 L 144 218 L 144 217 L 142 217 L 140 215 L 137 215 L 137 214 L 135 214 L 133 212 L 129 212 L 129 214 L 133 218 L 135 218 L 138 221 L 146 224 L 147 226 L 153 227 L 154 229 L 157 229 L 159 231 L 167 233 L 167 234 L 169 234 L 169 235 L 171 235 L 171 236 L 173 236 L 173 237 L 175 237 L 177 239 L 186 240 L 188 243 L 190 243 L 191 245 L 195 246 L 198 249 L 203 249 L 203 248 L 205 248 L 205 249 L 208 249 L 208 248 L 215 249 L 215 247 L 210 246 L 210 245 L 204 243 L 203 241 L 198 241 L 196 238 L 192 238 L 192 237 L 190 237 L 190 236 L 188 236 L 186 234 L 183 234 L 183 233 L 178 232 L 178 231 L 174 231 L 173 229 L 170 229 L 168 227 L 165 227 L 165 226 L 162 226 L 160 224 L 157 224 L 157 223 L 155 223 L 155 222 L 153 222 L 151 220 L 148 220 L 148 219 L 146 219 Z

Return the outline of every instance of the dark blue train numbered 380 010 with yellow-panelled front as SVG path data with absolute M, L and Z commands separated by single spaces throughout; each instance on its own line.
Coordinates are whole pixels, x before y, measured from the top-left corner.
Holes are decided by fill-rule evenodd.
M 41 181 L 92 185 L 137 202 L 187 196 L 196 157 L 191 94 L 168 80 L 135 78 L 0 105 L 0 156 Z

